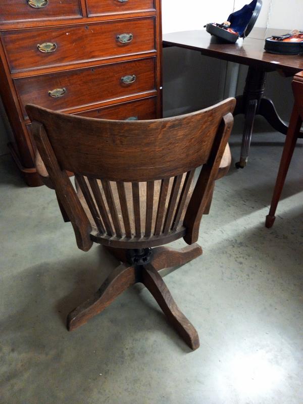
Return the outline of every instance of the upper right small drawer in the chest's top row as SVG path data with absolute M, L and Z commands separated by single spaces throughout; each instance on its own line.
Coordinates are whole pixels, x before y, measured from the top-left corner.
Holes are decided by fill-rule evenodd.
M 89 16 L 155 10 L 154 0 L 86 0 Z

